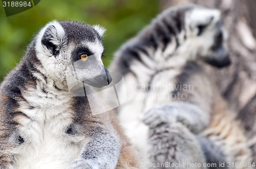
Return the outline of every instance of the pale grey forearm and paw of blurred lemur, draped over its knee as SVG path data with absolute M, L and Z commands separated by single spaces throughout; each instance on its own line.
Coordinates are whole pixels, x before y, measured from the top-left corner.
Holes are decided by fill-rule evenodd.
M 162 123 L 180 122 L 191 132 L 197 134 L 209 124 L 209 115 L 195 104 L 173 102 L 163 106 L 154 106 L 146 112 L 143 122 L 150 128 L 155 128 Z

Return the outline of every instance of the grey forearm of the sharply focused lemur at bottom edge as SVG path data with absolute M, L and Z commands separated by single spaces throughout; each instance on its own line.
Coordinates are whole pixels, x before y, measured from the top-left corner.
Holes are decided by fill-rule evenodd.
M 119 139 L 114 133 L 96 131 L 89 143 L 83 147 L 80 158 L 74 160 L 68 169 L 114 169 L 120 154 L 120 147 Z

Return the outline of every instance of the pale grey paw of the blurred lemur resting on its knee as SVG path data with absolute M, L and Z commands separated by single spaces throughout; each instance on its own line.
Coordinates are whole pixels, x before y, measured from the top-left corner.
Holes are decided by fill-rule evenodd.
M 173 113 L 174 111 L 177 109 L 172 106 L 154 106 L 146 112 L 142 121 L 150 128 L 162 123 L 175 123 L 177 118 Z

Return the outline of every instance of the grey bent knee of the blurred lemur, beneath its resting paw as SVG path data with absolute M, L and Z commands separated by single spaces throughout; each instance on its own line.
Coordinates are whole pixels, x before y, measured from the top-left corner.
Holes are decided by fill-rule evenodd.
M 151 128 L 148 144 L 150 161 L 164 163 L 161 168 L 207 168 L 202 166 L 206 160 L 196 136 L 181 123 L 162 123 Z

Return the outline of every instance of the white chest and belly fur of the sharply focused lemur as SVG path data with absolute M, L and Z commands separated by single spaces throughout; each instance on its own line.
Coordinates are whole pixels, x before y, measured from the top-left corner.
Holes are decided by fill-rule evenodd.
M 24 143 L 16 152 L 14 166 L 66 168 L 86 142 L 84 136 L 69 132 L 74 114 L 70 96 L 37 88 L 24 92 L 23 97 L 26 101 L 20 102 L 19 110 L 26 116 L 18 117 L 18 130 Z

